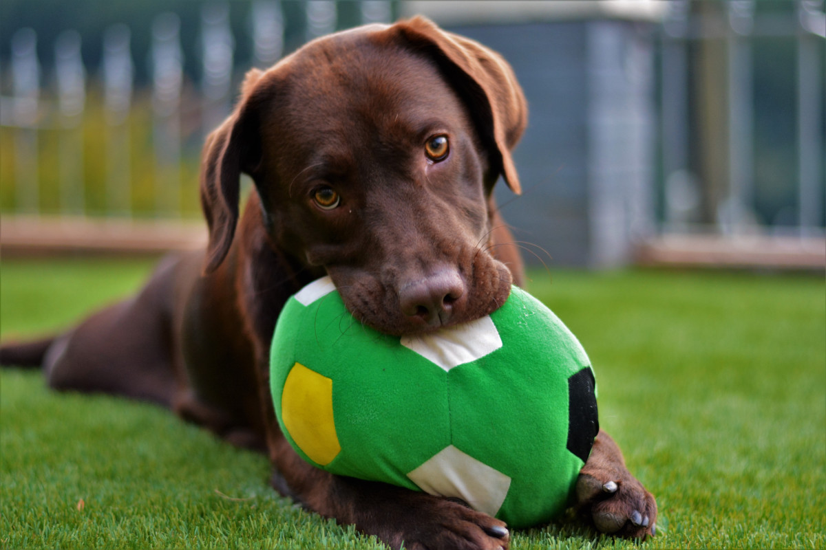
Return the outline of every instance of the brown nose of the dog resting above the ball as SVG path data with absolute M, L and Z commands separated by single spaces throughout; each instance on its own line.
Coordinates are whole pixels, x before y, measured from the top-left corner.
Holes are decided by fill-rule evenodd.
M 464 281 L 458 271 L 444 269 L 402 286 L 399 305 L 406 317 L 418 318 L 429 327 L 441 327 L 450 322 L 464 293 Z

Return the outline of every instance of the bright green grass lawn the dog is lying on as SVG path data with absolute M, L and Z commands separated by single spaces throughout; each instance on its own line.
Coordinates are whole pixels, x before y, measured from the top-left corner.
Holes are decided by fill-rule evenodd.
M 0 331 L 67 327 L 150 269 L 3 261 Z M 568 520 L 512 548 L 826 548 L 822 276 L 537 272 L 530 289 L 591 355 L 601 425 L 657 496 L 662 535 L 615 543 Z M 2 548 L 379 547 L 278 497 L 266 458 L 34 372 L 0 374 L 0 451 Z

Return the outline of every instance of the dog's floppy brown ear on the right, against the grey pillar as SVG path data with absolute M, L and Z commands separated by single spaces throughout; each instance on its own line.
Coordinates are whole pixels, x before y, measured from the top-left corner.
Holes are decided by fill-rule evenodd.
M 491 160 L 500 164 L 508 186 L 519 194 L 519 176 L 510 150 L 525 130 L 528 106 L 510 65 L 493 50 L 442 31 L 422 16 L 401 21 L 396 28 L 411 45 L 430 54 L 449 78 L 456 79 L 451 83 L 461 88 L 458 91 L 471 106 L 482 139 L 493 153 Z

